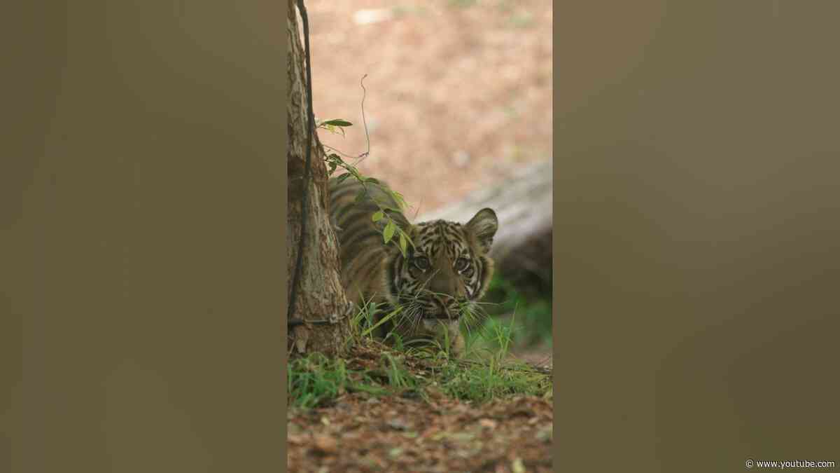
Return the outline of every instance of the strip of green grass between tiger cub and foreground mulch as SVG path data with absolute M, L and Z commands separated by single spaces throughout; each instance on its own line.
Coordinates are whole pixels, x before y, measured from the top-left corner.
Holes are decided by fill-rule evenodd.
M 328 359 L 320 353 L 291 359 L 291 406 L 322 407 L 352 391 L 371 396 L 417 396 L 428 401 L 431 390 L 476 404 L 501 396 L 550 394 L 549 375 L 507 360 L 515 317 L 507 325 L 486 324 L 476 331 L 485 343 L 468 346 L 466 359 L 454 359 L 443 346 L 417 347 L 403 344 L 398 337 L 392 347 L 375 342 L 367 330 L 372 326 L 365 328 L 362 323 L 373 319 L 361 312 L 354 317 L 354 323 L 358 322 L 354 333 L 360 337 L 360 344 L 351 359 Z

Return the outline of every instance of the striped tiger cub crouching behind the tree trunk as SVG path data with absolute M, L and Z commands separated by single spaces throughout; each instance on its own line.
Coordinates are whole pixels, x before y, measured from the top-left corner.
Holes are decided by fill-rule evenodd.
M 372 220 L 379 210 L 375 202 L 399 209 L 391 194 L 379 186 L 385 184 L 368 184 L 367 194 L 357 201 L 362 189 L 357 180 L 329 180 L 329 213 L 339 237 L 341 284 L 357 307 L 370 300 L 386 306 L 379 316 L 402 307 L 381 324 L 375 333 L 378 337 L 395 332 L 403 343 L 423 338 L 441 346 L 448 342 L 449 353 L 459 356 L 464 348 L 459 322 L 475 322 L 480 313 L 477 301 L 493 274 L 487 253 L 499 226 L 496 212 L 479 210 L 464 225 L 443 220 L 412 225 L 402 212 L 386 210 L 414 243 L 407 245 L 404 258 L 397 237 L 384 243 L 386 219 Z

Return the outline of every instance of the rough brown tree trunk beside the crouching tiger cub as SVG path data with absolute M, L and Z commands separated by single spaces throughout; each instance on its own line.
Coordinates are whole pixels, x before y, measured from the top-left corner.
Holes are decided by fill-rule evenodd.
M 288 290 L 297 263 L 298 245 L 301 238 L 302 195 L 304 189 L 307 151 L 307 88 L 304 50 L 297 21 L 297 8 L 294 0 L 289 0 L 287 29 L 289 35 L 288 54 L 288 134 L 287 151 L 288 173 L 288 215 L 286 254 L 288 255 L 287 274 Z M 311 59 L 311 58 L 310 58 Z M 349 340 L 349 303 L 339 279 L 338 240 L 329 224 L 327 213 L 327 168 L 323 162 L 323 147 L 318 136 L 312 132 L 311 174 L 306 189 L 309 194 L 307 209 L 307 229 L 303 236 L 304 248 L 295 313 L 288 314 L 289 319 L 302 321 L 335 320 L 334 323 L 304 322 L 289 327 L 287 348 L 290 354 L 297 348 L 298 353 L 320 352 L 339 355 L 344 352 L 345 342 Z

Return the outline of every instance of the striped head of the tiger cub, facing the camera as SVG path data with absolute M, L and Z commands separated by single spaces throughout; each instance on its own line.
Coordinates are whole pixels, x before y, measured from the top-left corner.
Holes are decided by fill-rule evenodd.
M 475 313 L 493 273 L 488 258 L 499 222 L 491 209 L 466 224 L 427 221 L 410 226 L 414 247 L 397 254 L 386 271 L 391 302 L 403 307 L 410 325 L 431 330 L 436 322 L 457 322 Z

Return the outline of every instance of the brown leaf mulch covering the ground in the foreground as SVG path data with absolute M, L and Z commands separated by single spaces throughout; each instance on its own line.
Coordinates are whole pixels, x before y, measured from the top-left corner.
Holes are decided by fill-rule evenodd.
M 551 471 L 551 401 L 518 396 L 474 407 L 438 396 L 344 395 L 291 411 L 290 471 Z

